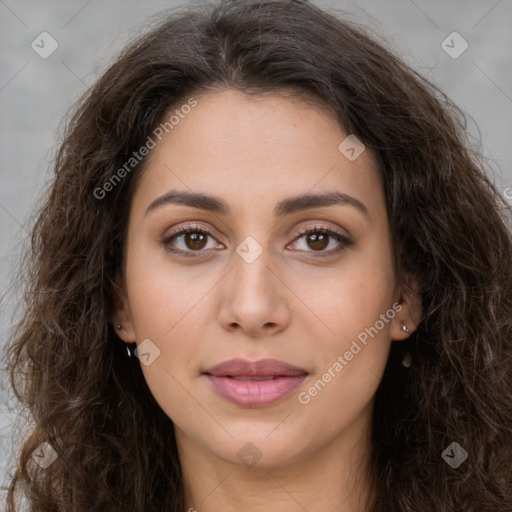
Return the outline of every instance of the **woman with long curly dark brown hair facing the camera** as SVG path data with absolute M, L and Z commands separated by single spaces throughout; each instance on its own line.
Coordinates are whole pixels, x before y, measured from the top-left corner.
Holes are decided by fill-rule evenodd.
M 461 114 L 306 3 L 127 48 L 34 227 L 8 510 L 512 510 L 510 208 Z

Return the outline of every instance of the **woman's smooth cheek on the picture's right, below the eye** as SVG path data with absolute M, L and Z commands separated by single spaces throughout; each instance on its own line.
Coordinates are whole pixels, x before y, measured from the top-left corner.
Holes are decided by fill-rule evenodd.
M 390 252 L 378 251 L 378 245 L 376 240 L 374 247 L 347 257 L 323 287 L 310 292 L 311 309 L 322 320 L 315 325 L 321 333 L 311 333 L 319 363 L 316 377 L 322 381 L 311 389 L 312 398 L 318 396 L 311 402 L 324 407 L 325 400 L 362 406 L 382 377 L 396 309 Z

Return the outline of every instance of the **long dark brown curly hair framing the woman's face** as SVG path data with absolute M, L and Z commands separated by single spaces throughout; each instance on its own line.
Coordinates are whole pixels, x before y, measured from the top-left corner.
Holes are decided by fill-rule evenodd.
M 377 389 L 369 510 L 510 512 L 510 205 L 469 140 L 465 114 L 438 86 L 364 27 L 285 0 L 167 13 L 69 118 L 20 265 L 23 316 L 5 356 L 33 421 L 8 511 L 20 494 L 32 512 L 183 510 L 173 423 L 111 324 L 147 158 L 104 197 L 98 190 L 173 105 L 226 88 L 314 97 L 378 157 L 395 272 L 419 283 L 423 318 L 407 345 L 392 344 Z M 45 469 L 32 460 L 43 442 L 58 454 Z M 467 452 L 458 468 L 441 456 L 453 442 Z

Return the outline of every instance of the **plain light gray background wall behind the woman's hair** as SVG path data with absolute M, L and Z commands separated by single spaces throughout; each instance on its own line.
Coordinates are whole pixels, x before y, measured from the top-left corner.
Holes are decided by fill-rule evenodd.
M 495 182 L 510 199 L 512 0 L 314 3 L 346 11 L 349 19 L 371 27 L 407 63 L 447 92 L 470 116 L 468 130 L 481 137 Z M 186 4 L 0 0 L 0 294 L 5 294 L 0 303 L 0 349 L 17 318 L 10 277 L 38 194 L 50 176 L 59 123 L 116 53 L 147 27 L 151 16 Z M 43 31 L 59 45 L 47 59 L 31 48 Z M 469 44 L 458 58 L 441 46 L 453 31 Z M 460 48 L 454 44 L 455 50 Z M 7 463 L 21 439 L 22 423 L 9 410 L 12 393 L 5 372 L 0 377 L 1 482 L 8 478 Z M 2 504 L 0 495 L 0 510 Z

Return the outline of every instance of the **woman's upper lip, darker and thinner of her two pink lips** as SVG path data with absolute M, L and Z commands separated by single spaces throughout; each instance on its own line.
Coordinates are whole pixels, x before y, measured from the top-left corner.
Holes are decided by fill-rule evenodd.
M 248 361 L 246 359 L 237 358 L 223 361 L 213 368 L 206 370 L 204 373 L 215 377 L 267 377 L 271 375 L 306 375 L 308 372 L 277 359 Z

